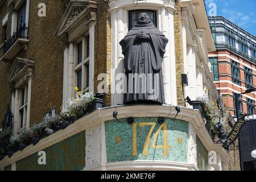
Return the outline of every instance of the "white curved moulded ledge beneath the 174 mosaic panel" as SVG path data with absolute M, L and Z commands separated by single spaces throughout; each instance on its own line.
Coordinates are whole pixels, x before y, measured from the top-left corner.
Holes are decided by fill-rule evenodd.
M 87 166 L 85 171 L 199 171 L 194 164 L 166 162 L 162 160 L 135 160 Z

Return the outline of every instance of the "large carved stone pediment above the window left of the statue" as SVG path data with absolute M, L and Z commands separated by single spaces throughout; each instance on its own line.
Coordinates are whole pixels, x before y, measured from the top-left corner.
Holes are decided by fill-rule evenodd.
M 86 28 L 96 20 L 97 2 L 70 1 L 55 35 L 60 37 L 74 31 L 77 27 Z

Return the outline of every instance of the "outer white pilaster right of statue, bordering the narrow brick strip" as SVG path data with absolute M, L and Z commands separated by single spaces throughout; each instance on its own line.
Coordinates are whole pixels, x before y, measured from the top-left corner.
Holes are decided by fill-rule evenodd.
M 169 54 L 170 54 L 170 87 L 171 87 L 171 104 L 177 104 L 177 85 L 176 85 L 176 60 L 175 60 L 175 37 L 174 37 L 174 11 L 172 7 L 168 11 L 168 30 L 169 30 Z

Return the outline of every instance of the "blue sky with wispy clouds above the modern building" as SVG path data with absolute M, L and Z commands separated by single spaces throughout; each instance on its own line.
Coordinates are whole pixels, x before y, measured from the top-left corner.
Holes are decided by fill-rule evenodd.
M 224 16 L 256 36 L 255 0 L 205 0 L 208 14 L 213 7 L 210 3 L 216 4 L 217 16 Z

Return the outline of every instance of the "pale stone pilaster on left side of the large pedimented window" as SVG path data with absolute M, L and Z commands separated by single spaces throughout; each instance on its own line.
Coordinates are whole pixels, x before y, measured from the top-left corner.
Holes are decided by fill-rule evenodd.
M 71 98 L 74 93 L 74 59 L 75 59 L 75 46 L 74 43 L 69 43 L 68 49 L 68 94 L 67 97 Z

